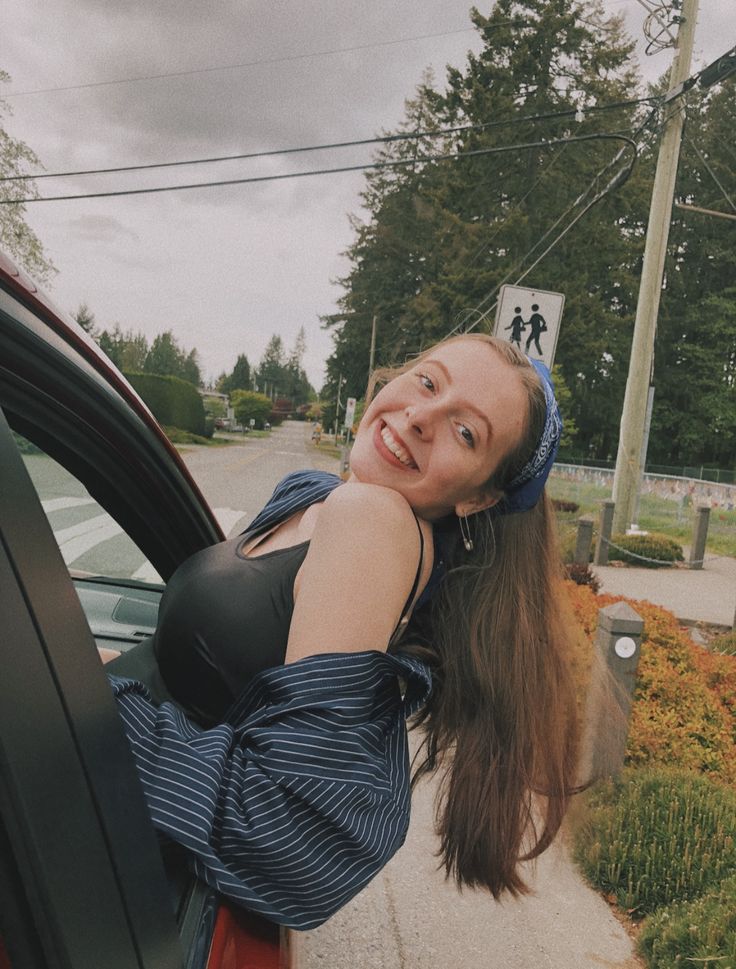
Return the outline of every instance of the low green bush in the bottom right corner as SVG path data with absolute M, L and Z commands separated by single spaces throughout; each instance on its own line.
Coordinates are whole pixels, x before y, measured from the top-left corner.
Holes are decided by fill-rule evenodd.
M 736 875 L 693 902 L 660 909 L 638 939 L 650 969 L 736 966 Z

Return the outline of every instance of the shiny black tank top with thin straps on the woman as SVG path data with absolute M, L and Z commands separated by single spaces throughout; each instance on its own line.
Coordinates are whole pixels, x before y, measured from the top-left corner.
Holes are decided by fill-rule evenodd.
M 422 570 L 392 636 L 407 621 Z M 176 702 L 200 723 L 221 723 L 233 701 L 264 669 L 283 664 L 294 611 L 294 580 L 309 542 L 247 556 L 252 533 L 195 553 L 169 580 L 159 609 L 154 651 Z

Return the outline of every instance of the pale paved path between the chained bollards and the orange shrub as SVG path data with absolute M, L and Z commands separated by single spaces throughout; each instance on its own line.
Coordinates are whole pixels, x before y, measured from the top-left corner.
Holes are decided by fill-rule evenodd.
M 686 554 L 687 557 L 687 554 Z M 736 609 L 736 559 L 706 556 L 702 569 L 641 569 L 591 566 L 601 592 L 646 599 L 664 606 L 683 622 L 707 622 L 731 628 Z

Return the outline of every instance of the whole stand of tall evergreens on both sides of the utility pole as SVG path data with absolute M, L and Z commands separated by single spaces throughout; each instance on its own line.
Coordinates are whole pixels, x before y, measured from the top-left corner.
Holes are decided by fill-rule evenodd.
M 323 318 L 334 335 L 323 397 L 336 399 L 340 377 L 343 401 L 363 396 L 374 317 L 375 364 L 403 362 L 453 330 L 492 329 L 499 287 L 526 274 L 520 285 L 566 296 L 556 364 L 569 388 L 567 453 L 611 458 L 670 108 L 637 103 L 633 44 L 600 3 L 498 0 L 488 17 L 471 17 L 482 49 L 444 86 L 424 78 L 395 132 L 420 136 L 388 142 L 376 158 L 404 164 L 366 175 L 339 311 Z M 733 83 L 687 95 L 680 203 L 732 209 Z M 617 133 L 640 147 L 628 179 L 632 151 L 619 155 Z M 466 157 L 424 160 L 452 153 Z M 649 460 L 733 466 L 733 223 L 682 208 L 673 219 Z

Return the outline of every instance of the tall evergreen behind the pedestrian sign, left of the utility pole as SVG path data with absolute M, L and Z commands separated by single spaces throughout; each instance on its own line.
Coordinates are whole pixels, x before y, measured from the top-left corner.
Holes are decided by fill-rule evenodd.
M 456 328 L 480 322 L 490 329 L 500 284 L 516 282 L 554 238 L 550 227 L 572 219 L 575 200 L 620 147 L 604 140 L 548 143 L 568 132 L 630 130 L 634 124 L 635 108 L 594 111 L 637 93 L 633 45 L 619 19 L 602 22 L 599 3 L 499 0 L 488 17 L 477 10 L 471 17 L 483 49 L 469 55 L 464 70 L 449 71 L 443 92 L 425 78 L 407 102 L 401 130 L 475 127 L 425 136 L 418 146 L 389 145 L 381 158 L 416 151 L 416 164 L 366 177 L 369 218 L 354 221 L 341 312 L 325 321 L 335 336 L 328 398 L 340 373 L 347 377 L 346 393 L 362 395 L 374 313 L 379 365 L 403 360 Z M 567 114 L 540 119 L 562 112 Z M 540 144 L 446 162 L 420 160 L 532 142 Z M 638 191 L 631 193 L 631 204 L 638 202 Z M 642 240 L 638 210 L 631 220 L 623 210 L 620 196 L 599 204 L 523 282 L 567 295 L 557 362 L 572 389 L 570 416 L 584 448 L 593 439 L 605 447 L 617 435 Z

